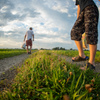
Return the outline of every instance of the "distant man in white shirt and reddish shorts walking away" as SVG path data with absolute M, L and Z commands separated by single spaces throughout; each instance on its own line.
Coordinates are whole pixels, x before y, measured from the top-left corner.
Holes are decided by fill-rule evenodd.
M 24 36 L 24 41 L 26 39 L 26 46 L 27 46 L 27 53 L 31 54 L 31 49 L 32 49 L 32 37 L 34 41 L 34 32 L 32 31 L 32 27 L 29 28 L 29 30 L 26 32 Z M 30 51 L 28 51 L 28 46 L 30 46 Z

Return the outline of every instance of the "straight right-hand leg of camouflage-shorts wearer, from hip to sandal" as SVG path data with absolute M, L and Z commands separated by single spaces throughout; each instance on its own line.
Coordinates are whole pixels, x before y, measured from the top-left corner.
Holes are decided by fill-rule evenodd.
M 86 39 L 90 48 L 90 59 L 86 67 L 95 70 L 95 55 L 98 42 L 98 9 L 95 6 L 86 7 L 84 19 Z

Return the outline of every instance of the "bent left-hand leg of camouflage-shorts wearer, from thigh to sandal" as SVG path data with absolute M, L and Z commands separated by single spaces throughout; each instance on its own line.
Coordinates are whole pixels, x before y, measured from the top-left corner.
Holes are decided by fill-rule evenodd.
M 76 20 L 72 30 L 71 30 L 71 39 L 75 41 L 75 44 L 78 48 L 78 52 L 79 52 L 79 57 L 73 57 L 72 61 L 83 61 L 83 60 L 87 60 L 88 58 L 86 58 L 84 52 L 83 52 L 83 46 L 82 46 L 82 33 L 84 33 L 84 12 L 81 12 L 81 14 L 79 15 L 78 19 Z M 82 59 L 81 59 L 81 58 Z M 76 60 L 77 59 L 77 60 Z

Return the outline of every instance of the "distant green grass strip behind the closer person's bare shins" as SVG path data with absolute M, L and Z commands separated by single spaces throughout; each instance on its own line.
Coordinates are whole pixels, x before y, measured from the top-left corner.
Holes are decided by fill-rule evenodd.
M 77 50 L 53 50 L 54 53 L 59 54 L 59 55 L 65 55 L 69 57 L 76 57 L 78 56 L 78 51 Z M 90 56 L 89 51 L 84 51 L 86 56 Z M 96 52 L 96 57 L 95 57 L 95 62 L 100 62 L 100 51 Z

